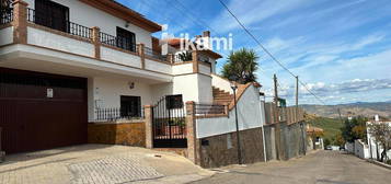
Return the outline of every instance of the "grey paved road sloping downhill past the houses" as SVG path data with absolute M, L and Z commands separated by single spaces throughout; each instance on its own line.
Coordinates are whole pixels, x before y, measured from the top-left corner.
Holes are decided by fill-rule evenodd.
M 337 151 L 227 170 L 194 184 L 391 184 L 391 170 Z

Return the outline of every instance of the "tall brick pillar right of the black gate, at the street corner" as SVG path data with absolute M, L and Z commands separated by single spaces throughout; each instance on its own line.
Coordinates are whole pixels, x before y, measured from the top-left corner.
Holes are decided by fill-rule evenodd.
M 196 136 L 195 104 L 193 101 L 186 102 L 186 128 L 187 128 L 187 158 L 195 164 L 200 164 L 199 140 Z

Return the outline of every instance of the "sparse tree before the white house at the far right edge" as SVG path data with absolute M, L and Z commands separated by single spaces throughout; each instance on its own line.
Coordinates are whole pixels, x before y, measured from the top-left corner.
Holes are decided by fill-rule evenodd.
M 391 148 L 391 127 L 386 123 L 369 124 L 369 134 L 375 138 L 375 141 L 383 147 L 381 158 L 378 160 L 383 162 L 387 157 L 387 151 Z

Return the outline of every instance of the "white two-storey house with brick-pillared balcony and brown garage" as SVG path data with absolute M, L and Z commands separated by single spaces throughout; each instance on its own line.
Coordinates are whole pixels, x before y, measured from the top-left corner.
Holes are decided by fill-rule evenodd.
M 214 85 L 230 90 L 214 74 L 220 55 L 161 55 L 151 34 L 162 27 L 114 0 L 2 2 L 0 127 L 7 152 L 84 143 L 89 122 L 142 118 L 142 106 L 162 97 L 176 108 L 186 101 L 214 103 Z

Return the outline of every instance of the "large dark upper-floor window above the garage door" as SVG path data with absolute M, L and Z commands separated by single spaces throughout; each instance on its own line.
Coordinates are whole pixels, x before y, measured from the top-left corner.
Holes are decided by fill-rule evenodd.
M 35 23 L 69 32 L 69 8 L 50 0 L 35 0 Z

